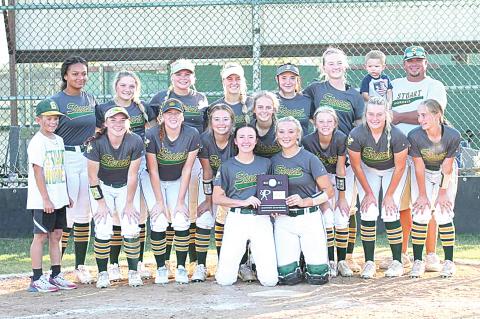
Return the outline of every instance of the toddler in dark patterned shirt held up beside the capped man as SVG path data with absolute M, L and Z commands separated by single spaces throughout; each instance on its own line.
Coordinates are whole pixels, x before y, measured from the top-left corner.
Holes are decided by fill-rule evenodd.
M 392 83 L 390 78 L 383 74 L 386 56 L 379 50 L 372 50 L 365 56 L 365 69 L 368 74 L 363 78 L 360 93 L 368 101 L 372 96 L 383 97 L 388 106 L 392 106 Z

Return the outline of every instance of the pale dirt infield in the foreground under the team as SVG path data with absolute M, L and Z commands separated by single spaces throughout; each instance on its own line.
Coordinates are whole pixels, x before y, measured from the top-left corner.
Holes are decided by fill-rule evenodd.
M 122 269 L 124 275 L 126 269 Z M 72 274 L 67 275 L 72 278 Z M 1 318 L 478 318 L 480 264 L 458 262 L 442 279 L 334 278 L 324 286 L 265 288 L 258 283 L 220 287 L 206 283 L 159 286 L 152 280 L 130 288 L 81 285 L 73 291 L 29 293 L 28 278 L 0 281 Z

